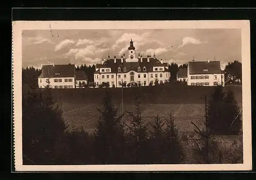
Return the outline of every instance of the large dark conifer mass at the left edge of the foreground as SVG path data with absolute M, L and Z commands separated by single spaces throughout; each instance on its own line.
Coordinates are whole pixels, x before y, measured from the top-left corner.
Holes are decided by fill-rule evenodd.
M 62 162 L 61 138 L 66 130 L 50 88 L 23 91 L 23 156 L 25 164 Z

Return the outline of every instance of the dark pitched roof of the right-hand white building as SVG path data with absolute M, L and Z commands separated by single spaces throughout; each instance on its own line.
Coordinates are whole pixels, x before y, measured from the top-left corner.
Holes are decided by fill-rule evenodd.
M 188 62 L 189 74 L 217 74 L 221 73 L 220 61 L 193 61 Z M 208 69 L 204 71 L 204 69 Z

